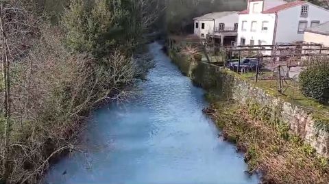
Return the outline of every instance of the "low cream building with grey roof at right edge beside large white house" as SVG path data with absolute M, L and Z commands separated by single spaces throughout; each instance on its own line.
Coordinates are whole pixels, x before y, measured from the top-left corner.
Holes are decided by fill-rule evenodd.
M 323 44 L 329 47 L 329 21 L 305 30 L 304 42 Z

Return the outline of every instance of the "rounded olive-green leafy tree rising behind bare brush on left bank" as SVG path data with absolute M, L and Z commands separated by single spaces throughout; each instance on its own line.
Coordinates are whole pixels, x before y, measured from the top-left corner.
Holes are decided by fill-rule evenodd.
M 86 1 L 72 0 L 69 10 L 64 13 L 62 25 L 69 49 L 91 52 L 101 58 L 114 48 L 115 40 L 106 34 L 114 32 L 117 27 L 110 4 L 106 0 L 96 2 L 92 5 Z

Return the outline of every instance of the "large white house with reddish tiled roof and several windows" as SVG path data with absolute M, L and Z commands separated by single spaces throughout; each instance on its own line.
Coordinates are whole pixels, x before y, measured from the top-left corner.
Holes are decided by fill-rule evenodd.
M 239 12 L 239 45 L 304 40 L 304 30 L 329 21 L 329 11 L 306 1 L 249 0 Z

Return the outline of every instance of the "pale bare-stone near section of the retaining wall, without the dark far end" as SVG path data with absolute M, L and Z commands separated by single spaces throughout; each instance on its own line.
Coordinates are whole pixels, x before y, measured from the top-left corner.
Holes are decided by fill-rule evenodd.
M 225 83 L 225 81 L 223 82 Z M 260 106 L 269 107 L 272 111 L 271 114 L 276 114 L 280 121 L 289 124 L 290 130 L 295 135 L 313 146 L 320 155 L 329 157 L 329 133 L 315 127 L 315 120 L 308 111 L 281 98 L 272 96 L 265 90 L 254 86 L 254 84 L 237 77 L 234 78 L 232 86 L 232 98 L 235 101 L 247 105 L 252 99 Z

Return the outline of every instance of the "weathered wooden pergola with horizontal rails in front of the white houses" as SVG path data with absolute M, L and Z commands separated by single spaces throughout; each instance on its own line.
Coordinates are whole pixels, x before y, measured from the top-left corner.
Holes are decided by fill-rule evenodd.
M 232 62 L 236 58 L 236 62 L 239 62 L 236 70 L 239 72 L 245 71 L 245 68 L 243 68 L 244 65 L 241 64 L 241 59 L 243 58 L 256 58 L 258 62 L 267 65 L 269 68 L 292 68 L 300 66 L 302 62 L 312 57 L 329 55 L 329 47 L 306 42 L 241 46 L 208 45 L 207 47 L 208 49 L 205 49 L 205 55 L 218 55 L 217 57 L 221 57 L 221 61 L 223 61 L 223 66 L 226 66 L 226 62 Z M 208 62 L 212 61 L 208 60 Z M 221 65 L 221 62 L 218 64 Z M 258 79 L 258 72 L 259 68 L 257 65 L 256 81 Z

